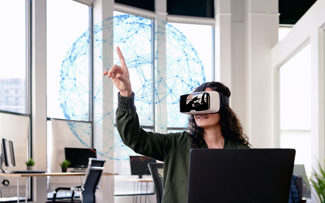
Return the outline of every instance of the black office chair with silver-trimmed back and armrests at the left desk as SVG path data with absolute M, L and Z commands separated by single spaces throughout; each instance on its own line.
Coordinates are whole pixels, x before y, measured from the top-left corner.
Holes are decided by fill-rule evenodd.
M 88 167 L 87 167 L 83 184 L 77 187 L 59 187 L 55 189 L 52 201 L 48 201 L 46 203 L 56 203 L 56 202 L 94 203 L 95 192 L 96 189 L 99 189 L 97 185 L 100 176 L 104 170 L 105 161 L 106 159 L 89 158 Z M 70 198 L 57 199 L 56 196 L 59 190 L 70 190 L 72 191 L 72 196 Z M 75 192 L 80 193 L 79 199 L 74 198 Z

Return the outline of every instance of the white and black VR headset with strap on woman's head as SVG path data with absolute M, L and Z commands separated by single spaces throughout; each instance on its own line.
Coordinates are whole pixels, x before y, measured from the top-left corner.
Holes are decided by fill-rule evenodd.
M 203 92 L 209 82 L 201 84 L 197 92 L 179 97 L 179 112 L 194 115 L 205 113 L 218 113 L 223 105 L 229 106 L 229 97 L 220 92 Z

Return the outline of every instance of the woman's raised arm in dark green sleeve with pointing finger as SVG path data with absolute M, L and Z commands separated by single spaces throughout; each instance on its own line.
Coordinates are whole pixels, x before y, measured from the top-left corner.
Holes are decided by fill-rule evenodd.
M 116 51 L 121 66 L 113 65 L 103 75 L 111 78 L 120 91 L 115 117 L 117 130 L 123 143 L 136 153 L 163 161 L 164 157 L 177 146 L 182 138 L 175 136 L 174 133 L 151 133 L 140 128 L 129 71 L 120 48 L 116 47 Z

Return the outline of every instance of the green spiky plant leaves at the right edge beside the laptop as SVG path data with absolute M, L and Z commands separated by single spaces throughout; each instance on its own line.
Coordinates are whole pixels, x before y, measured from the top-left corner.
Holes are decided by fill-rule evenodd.
M 325 159 L 324 159 L 325 164 Z M 315 188 L 319 202 L 325 203 L 325 170 L 321 165 L 318 163 L 318 173 L 314 171 L 312 177 L 310 178 L 312 186 Z

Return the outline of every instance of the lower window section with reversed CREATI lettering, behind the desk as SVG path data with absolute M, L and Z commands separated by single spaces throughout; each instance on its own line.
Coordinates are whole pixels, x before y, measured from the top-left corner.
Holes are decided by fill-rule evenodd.
M 47 172 L 62 172 L 59 163 L 65 160 L 64 148 L 91 148 L 91 138 L 91 123 L 57 119 L 47 121 Z M 68 168 L 67 172 L 71 171 L 72 168 Z M 83 176 L 50 177 L 48 178 L 47 197 L 52 198 L 53 191 L 58 187 L 81 185 L 83 179 Z M 58 195 L 60 197 L 68 197 L 69 194 L 71 193 L 65 191 L 59 192 Z

